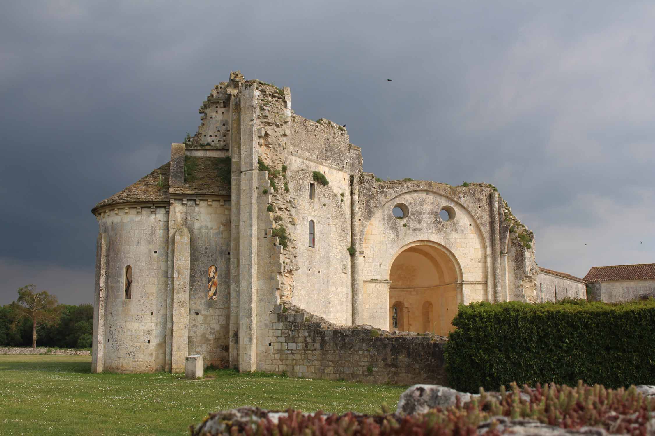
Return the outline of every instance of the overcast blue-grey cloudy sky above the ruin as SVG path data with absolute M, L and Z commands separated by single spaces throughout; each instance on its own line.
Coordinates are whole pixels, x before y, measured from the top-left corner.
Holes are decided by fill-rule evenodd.
M 92 302 L 90 209 L 237 69 L 347 124 L 365 171 L 494 184 L 543 267 L 655 262 L 653 23 L 651 1 L 5 2 L 0 304 Z

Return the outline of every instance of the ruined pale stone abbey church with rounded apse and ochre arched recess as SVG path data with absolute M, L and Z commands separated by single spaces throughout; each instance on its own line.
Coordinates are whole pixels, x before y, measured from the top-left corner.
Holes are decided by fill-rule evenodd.
M 344 127 L 239 72 L 199 112 L 170 162 L 92 210 L 94 372 L 202 354 L 312 377 L 339 348 L 328 324 L 446 335 L 458 303 L 543 301 L 533 233 L 494 186 L 365 173 Z

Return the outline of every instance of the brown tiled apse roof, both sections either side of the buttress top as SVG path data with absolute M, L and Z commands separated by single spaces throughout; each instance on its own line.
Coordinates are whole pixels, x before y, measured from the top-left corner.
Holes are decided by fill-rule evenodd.
M 172 194 L 189 194 L 189 195 L 230 195 L 230 183 L 227 179 L 221 177 L 226 171 L 221 171 L 226 165 L 230 165 L 229 160 L 225 158 L 195 158 L 196 169 L 194 171 L 195 180 L 185 182 L 184 186 L 172 186 Z M 110 205 L 119 205 L 121 203 L 162 203 L 168 201 L 168 176 L 170 173 L 170 162 L 165 163 L 159 168 L 153 170 L 149 175 L 140 178 L 136 183 L 131 184 L 119 193 L 104 199 L 98 203 L 91 212 L 101 207 Z M 163 186 L 159 187 L 159 175 L 163 180 Z M 227 177 L 229 177 L 229 169 Z

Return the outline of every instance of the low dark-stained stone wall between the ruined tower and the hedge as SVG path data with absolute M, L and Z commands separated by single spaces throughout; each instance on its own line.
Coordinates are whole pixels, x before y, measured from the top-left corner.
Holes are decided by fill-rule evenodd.
M 444 341 L 371 326 L 339 327 L 297 308 L 283 310 L 278 305 L 270 314 L 266 371 L 329 380 L 447 384 Z

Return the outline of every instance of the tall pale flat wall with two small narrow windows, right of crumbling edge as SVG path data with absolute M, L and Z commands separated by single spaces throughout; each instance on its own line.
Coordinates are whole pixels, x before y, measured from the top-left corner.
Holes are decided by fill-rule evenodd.
M 339 325 L 352 323 L 350 290 L 352 258 L 351 175 L 359 174 L 362 159 L 353 152 L 342 126 L 320 119 L 291 115 L 288 141 L 290 235 L 294 246 L 285 259 L 282 297 Z M 318 171 L 329 184 L 314 180 Z M 314 199 L 310 199 L 314 184 Z M 309 222 L 314 222 L 313 247 Z

